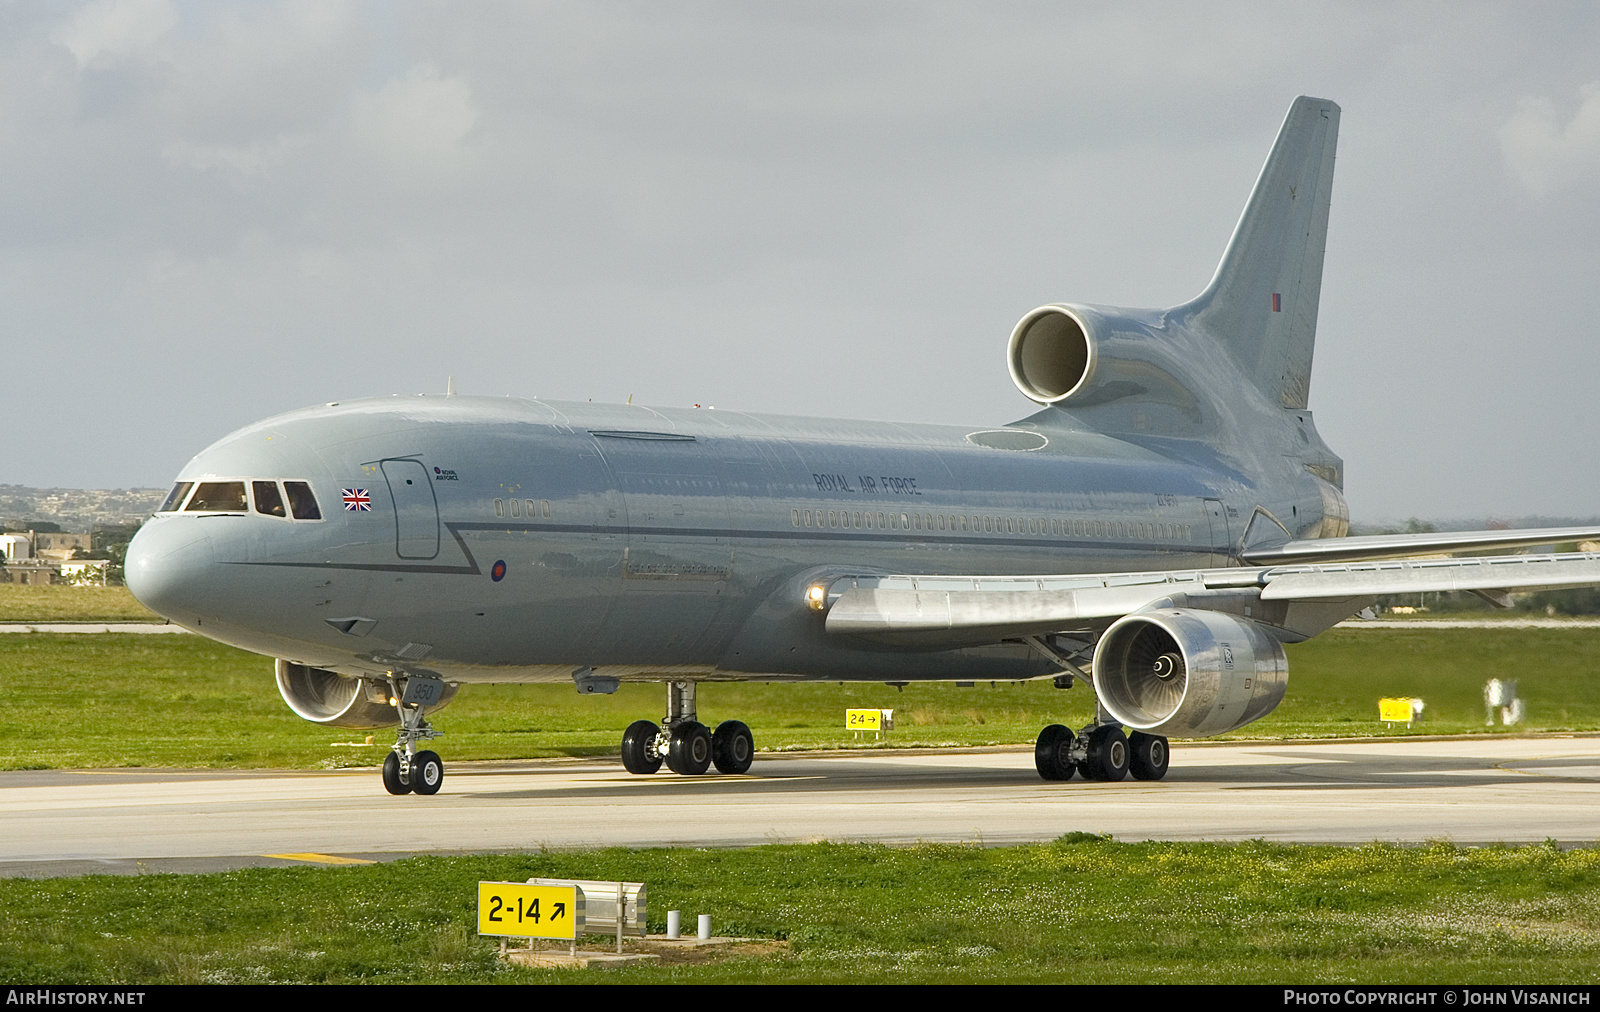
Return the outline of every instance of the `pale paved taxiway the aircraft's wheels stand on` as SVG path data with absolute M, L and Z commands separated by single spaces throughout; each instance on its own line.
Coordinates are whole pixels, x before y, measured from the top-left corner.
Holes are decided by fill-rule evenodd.
M 1571 845 L 1600 837 L 1600 737 L 1174 743 L 1158 783 L 1046 783 L 1022 749 L 760 756 L 746 777 L 630 777 L 614 761 L 453 764 L 434 797 L 392 797 L 376 770 L 27 770 L 0 773 L 0 874 L 13 876 L 539 847 L 1013 844 L 1074 831 Z

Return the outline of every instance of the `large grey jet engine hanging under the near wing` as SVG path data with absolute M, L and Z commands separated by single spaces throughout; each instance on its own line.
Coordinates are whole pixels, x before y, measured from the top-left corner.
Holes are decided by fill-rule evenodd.
M 1205 738 L 1272 713 L 1288 689 L 1283 645 L 1259 624 L 1190 608 L 1126 615 L 1094 647 L 1094 692 L 1122 724 Z

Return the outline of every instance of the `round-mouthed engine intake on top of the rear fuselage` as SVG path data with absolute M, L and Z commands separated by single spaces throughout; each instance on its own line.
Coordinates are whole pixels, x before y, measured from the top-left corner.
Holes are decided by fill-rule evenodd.
M 1203 380 L 1205 359 L 1216 354 L 1165 328 L 1158 314 L 1142 315 L 1067 303 L 1034 309 L 1006 344 L 1011 383 L 1075 413 L 1109 405 L 1102 423 L 1112 431 L 1192 431 L 1205 421 L 1197 392 L 1205 386 L 1194 373 Z

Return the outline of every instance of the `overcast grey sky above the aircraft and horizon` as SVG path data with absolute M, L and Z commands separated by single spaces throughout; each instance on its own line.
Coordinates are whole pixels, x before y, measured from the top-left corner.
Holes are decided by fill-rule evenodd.
M 997 424 L 1341 104 L 1358 520 L 1595 516 L 1600 6 L 0 0 L 0 482 L 392 392 Z

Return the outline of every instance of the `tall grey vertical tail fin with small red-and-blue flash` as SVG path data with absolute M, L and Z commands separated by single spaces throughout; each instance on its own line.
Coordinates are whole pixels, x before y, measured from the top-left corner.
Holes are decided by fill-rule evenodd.
M 1310 392 L 1338 136 L 1338 106 L 1294 99 L 1216 277 L 1186 306 L 1240 371 L 1286 408 L 1304 408 Z

